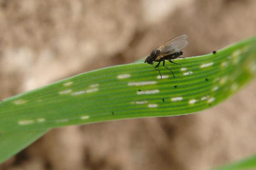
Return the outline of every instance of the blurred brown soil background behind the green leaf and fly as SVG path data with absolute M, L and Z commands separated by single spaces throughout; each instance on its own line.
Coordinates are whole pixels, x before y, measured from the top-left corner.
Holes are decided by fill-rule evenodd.
M 188 34 L 185 56 L 255 35 L 255 0 L 0 0 L 0 98 L 134 62 Z M 198 114 L 63 127 L 1 170 L 204 170 L 256 153 L 256 81 Z

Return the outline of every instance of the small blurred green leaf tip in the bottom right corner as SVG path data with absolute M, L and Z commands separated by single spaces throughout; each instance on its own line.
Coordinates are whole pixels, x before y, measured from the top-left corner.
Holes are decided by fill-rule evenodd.
M 253 169 L 254 170 L 256 169 L 256 155 L 224 167 L 216 168 L 215 170 L 253 170 Z

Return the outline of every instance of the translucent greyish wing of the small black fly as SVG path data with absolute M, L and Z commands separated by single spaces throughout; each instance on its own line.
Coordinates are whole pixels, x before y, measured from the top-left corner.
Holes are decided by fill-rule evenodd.
M 186 47 L 188 45 L 187 42 L 187 35 L 182 34 L 178 37 L 173 38 L 172 40 L 167 41 L 163 45 L 157 48 L 157 50 L 160 50 L 159 57 L 163 57 L 169 54 L 174 54 L 176 52 L 181 51 L 182 48 Z

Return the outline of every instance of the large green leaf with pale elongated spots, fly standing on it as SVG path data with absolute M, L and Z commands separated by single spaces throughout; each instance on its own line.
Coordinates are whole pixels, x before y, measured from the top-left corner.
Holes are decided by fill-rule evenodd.
M 227 99 L 256 75 L 256 37 L 199 57 L 134 63 L 60 80 L 0 103 L 0 161 L 52 127 L 195 113 Z M 39 130 L 35 133 L 35 130 Z M 15 134 L 30 133 L 26 142 Z M 9 135 L 8 134 L 12 134 Z M 4 141 L 13 142 L 11 146 Z

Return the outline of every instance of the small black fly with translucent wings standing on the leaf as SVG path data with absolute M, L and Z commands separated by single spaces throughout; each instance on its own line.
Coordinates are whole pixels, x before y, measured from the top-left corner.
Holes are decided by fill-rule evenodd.
M 163 66 L 167 68 L 169 71 L 172 72 L 172 70 L 165 66 L 165 60 L 168 60 L 171 63 L 181 65 L 178 63 L 175 63 L 172 61 L 172 59 L 176 59 L 177 57 L 180 57 L 183 54 L 183 51 L 181 51 L 186 45 L 188 45 L 187 42 L 187 35 L 182 34 L 178 37 L 175 37 L 167 42 L 165 42 L 163 45 L 157 47 L 154 49 L 151 54 L 145 59 L 145 63 L 153 64 L 154 62 L 158 62 L 158 64 L 155 66 L 155 69 L 159 72 L 161 79 L 162 75 L 160 73 L 160 70 L 157 68 L 159 67 L 160 63 L 163 61 Z M 182 58 L 182 57 L 180 57 Z M 173 78 L 175 78 L 173 72 L 172 72 Z

